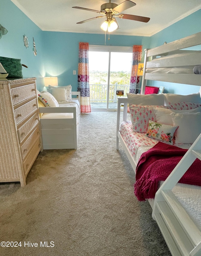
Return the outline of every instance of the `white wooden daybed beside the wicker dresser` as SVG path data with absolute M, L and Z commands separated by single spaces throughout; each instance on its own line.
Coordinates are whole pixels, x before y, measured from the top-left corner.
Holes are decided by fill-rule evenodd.
M 39 107 L 43 113 L 41 135 L 43 149 L 77 149 L 80 123 L 80 92 L 71 92 L 72 98 L 59 107 Z

